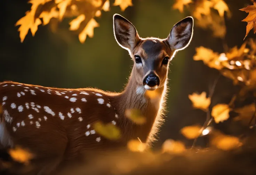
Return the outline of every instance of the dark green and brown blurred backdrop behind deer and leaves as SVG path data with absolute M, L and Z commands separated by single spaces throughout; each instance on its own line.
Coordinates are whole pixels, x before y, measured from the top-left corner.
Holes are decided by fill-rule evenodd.
M 194 61 L 195 48 L 203 46 L 222 53 L 223 43 L 229 48 L 240 47 L 247 25 L 241 20 L 247 14 L 238 9 L 251 1 L 225 2 L 232 13 L 231 18 L 225 18 L 225 37 L 213 37 L 212 31 L 195 25 L 190 46 L 179 51 L 171 61 L 166 122 L 161 127 L 155 147 L 166 139 L 181 140 L 191 145 L 193 141 L 182 136 L 181 128 L 205 122 L 206 113 L 193 109 L 188 95 L 202 91 L 208 93 L 219 72 L 205 66 L 202 61 Z M 35 36 L 32 37 L 29 31 L 21 43 L 15 23 L 30 10 L 31 4 L 27 0 L 1 1 L 0 81 L 57 88 L 97 87 L 119 92 L 127 83 L 133 62 L 128 52 L 114 39 L 113 14 L 118 13 L 130 20 L 143 38 L 166 38 L 175 23 L 191 15 L 186 10 L 181 13 L 173 9 L 174 3 L 174 0 L 133 0 L 133 6 L 125 11 L 121 11 L 119 6 L 111 6 L 110 11 L 102 11 L 101 17 L 96 18 L 100 27 L 94 29 L 94 37 L 87 37 L 85 43 L 80 43 L 78 35 L 69 30 L 71 18 L 64 18 L 58 27 L 56 23 L 39 25 Z M 255 36 L 251 32 L 248 37 Z M 228 103 L 234 91 L 232 80 L 221 76 L 212 103 Z M 216 127 L 225 130 L 228 123 L 229 120 Z M 205 145 L 206 139 L 199 138 L 198 144 Z

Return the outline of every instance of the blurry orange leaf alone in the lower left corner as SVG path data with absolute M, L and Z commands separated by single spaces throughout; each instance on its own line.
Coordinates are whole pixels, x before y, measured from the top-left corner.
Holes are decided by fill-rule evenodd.
M 11 158 L 20 163 L 28 163 L 29 160 L 33 158 L 33 155 L 29 151 L 21 149 L 19 147 L 10 149 L 9 154 Z

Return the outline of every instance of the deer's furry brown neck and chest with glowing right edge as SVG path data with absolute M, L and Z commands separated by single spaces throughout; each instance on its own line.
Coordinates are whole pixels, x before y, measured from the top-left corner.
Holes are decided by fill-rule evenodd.
M 126 139 L 139 138 L 142 142 L 151 143 L 162 121 L 162 103 L 165 97 L 166 84 L 155 91 L 147 91 L 138 84 L 131 72 L 125 90 L 114 98 L 114 105 L 121 117 L 121 128 Z M 127 109 L 139 109 L 146 117 L 144 124 L 138 125 L 125 115 Z

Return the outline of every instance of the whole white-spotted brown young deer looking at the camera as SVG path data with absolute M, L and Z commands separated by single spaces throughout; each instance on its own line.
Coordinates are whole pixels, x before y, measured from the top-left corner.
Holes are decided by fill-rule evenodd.
M 148 147 L 163 123 L 169 63 L 192 40 L 193 18 L 176 23 L 165 39 L 141 38 L 125 17 L 113 15 L 117 43 L 134 61 L 123 91 L 106 92 L 93 88 L 61 89 L 12 81 L 0 83 L 0 148 L 20 145 L 37 158 L 54 160 L 39 174 L 48 174 L 63 161 L 81 151 L 125 147 L 139 138 Z M 156 94 L 151 98 L 148 93 Z M 139 109 L 146 121 L 136 124 L 127 109 Z M 101 120 L 120 129 L 119 140 L 95 132 Z M 50 165 L 49 165 L 50 164 Z

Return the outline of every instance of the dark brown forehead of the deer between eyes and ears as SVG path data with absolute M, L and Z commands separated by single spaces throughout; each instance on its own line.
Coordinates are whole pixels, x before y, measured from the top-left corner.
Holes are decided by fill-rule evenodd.
M 137 45 L 134 54 L 141 55 L 144 60 L 150 60 L 165 57 L 169 52 L 166 44 L 160 39 L 146 39 Z

